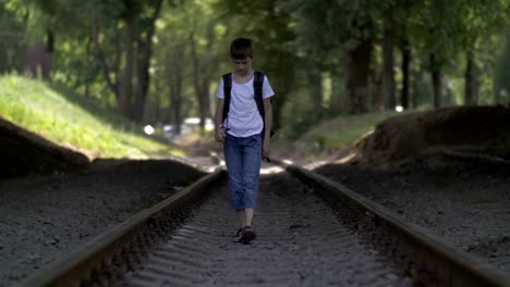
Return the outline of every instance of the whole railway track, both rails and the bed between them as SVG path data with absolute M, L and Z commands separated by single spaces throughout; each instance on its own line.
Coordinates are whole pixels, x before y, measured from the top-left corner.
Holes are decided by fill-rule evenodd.
M 275 160 L 274 160 L 275 162 Z M 20 286 L 510 286 L 510 277 L 301 167 L 260 178 L 253 245 L 224 171 L 131 217 Z

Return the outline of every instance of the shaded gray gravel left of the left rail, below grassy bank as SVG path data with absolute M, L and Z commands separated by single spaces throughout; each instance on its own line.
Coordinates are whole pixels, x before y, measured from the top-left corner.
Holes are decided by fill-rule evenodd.
M 203 175 L 173 161 L 101 161 L 80 174 L 0 182 L 0 286 Z

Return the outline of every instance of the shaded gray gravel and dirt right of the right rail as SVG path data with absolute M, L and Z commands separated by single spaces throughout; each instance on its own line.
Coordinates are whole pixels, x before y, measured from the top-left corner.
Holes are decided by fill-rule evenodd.
M 510 164 L 436 155 L 398 171 L 315 170 L 510 272 Z

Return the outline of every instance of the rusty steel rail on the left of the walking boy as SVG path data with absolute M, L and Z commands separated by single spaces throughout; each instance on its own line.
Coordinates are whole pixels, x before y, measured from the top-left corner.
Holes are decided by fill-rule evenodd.
M 60 257 L 16 286 L 114 285 L 125 272 L 135 269 L 149 246 L 165 238 L 170 229 L 187 216 L 190 205 L 206 198 L 209 186 L 224 174 L 224 170 L 218 169 L 69 254 Z

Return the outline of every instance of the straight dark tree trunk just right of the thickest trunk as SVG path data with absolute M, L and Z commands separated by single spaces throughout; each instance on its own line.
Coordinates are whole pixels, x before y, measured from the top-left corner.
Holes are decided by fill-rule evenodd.
M 385 110 L 393 110 L 396 105 L 394 96 L 394 59 L 393 59 L 393 18 L 391 12 L 388 12 L 388 16 L 385 21 L 384 28 L 384 40 L 382 40 L 382 100 Z

